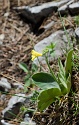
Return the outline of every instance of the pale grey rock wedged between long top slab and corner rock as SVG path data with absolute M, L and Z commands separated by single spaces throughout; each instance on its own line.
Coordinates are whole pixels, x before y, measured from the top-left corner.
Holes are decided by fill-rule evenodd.
M 74 0 L 70 0 L 67 4 L 65 4 L 64 6 L 61 6 L 58 8 L 58 12 L 60 12 L 61 15 L 65 15 L 68 14 L 68 6 L 73 3 Z

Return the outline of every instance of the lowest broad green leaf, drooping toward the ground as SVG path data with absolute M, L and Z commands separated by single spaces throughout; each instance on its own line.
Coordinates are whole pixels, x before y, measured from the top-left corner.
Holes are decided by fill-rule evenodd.
M 61 95 L 62 93 L 59 88 L 51 88 L 42 91 L 38 97 L 38 109 L 43 111 L 56 100 L 56 97 Z

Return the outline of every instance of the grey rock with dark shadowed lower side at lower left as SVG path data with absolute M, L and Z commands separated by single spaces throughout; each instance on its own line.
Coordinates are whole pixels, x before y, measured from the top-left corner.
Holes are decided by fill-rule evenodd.
M 15 118 L 19 113 L 20 107 L 24 103 L 25 99 L 25 94 L 15 94 L 15 96 L 9 100 L 8 106 L 2 111 L 4 119 Z

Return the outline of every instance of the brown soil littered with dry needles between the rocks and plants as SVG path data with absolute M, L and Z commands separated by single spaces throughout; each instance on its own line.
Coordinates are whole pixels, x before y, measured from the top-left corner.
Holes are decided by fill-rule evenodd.
M 50 2 L 52 0 L 1 0 L 0 3 L 0 34 L 4 36 L 2 44 L 0 45 L 0 78 L 5 77 L 8 81 L 13 84 L 14 82 L 19 82 L 24 84 L 24 76 L 26 75 L 18 66 L 20 62 L 24 62 L 30 67 L 31 65 L 31 50 L 33 46 L 47 37 L 51 33 L 63 29 L 62 23 L 58 17 L 57 13 L 53 13 L 48 18 L 46 18 L 40 29 L 43 28 L 48 22 L 56 21 L 54 27 L 50 30 L 40 33 L 38 35 L 34 34 L 31 31 L 30 26 L 23 22 L 23 20 L 18 16 L 18 14 L 12 10 L 12 7 L 21 6 L 21 5 L 36 5 L 39 3 Z M 8 14 L 8 16 L 6 16 Z M 64 18 L 63 18 L 64 19 Z M 68 15 L 65 21 L 66 28 L 74 28 L 75 24 L 73 18 Z M 75 81 L 74 83 L 79 83 L 79 74 L 74 74 Z M 74 77 L 73 76 L 73 77 Z M 73 78 L 74 79 L 74 78 Z M 15 94 L 14 89 L 9 93 Z M 8 100 L 11 95 L 6 96 L 6 102 L 3 100 L 0 102 L 0 112 L 6 107 Z M 72 96 L 71 96 L 72 98 Z M 75 98 L 75 97 L 74 97 Z M 58 102 L 55 105 L 51 105 L 49 109 L 44 113 L 36 113 L 34 115 L 34 120 L 37 122 L 37 125 L 77 125 L 79 123 L 77 114 L 76 120 L 75 116 L 71 116 L 71 109 L 68 110 L 68 98 L 65 97 L 61 101 L 61 105 L 58 106 Z M 64 105 L 64 107 L 63 107 Z M 75 106 L 70 106 L 70 108 L 74 108 Z M 64 112 L 64 113 L 63 113 Z M 69 113 L 69 114 L 68 114 Z M 60 119 L 61 121 L 58 123 L 57 121 Z M 73 119 L 73 123 L 70 119 Z M 18 120 L 9 121 L 10 123 L 15 123 L 18 125 Z

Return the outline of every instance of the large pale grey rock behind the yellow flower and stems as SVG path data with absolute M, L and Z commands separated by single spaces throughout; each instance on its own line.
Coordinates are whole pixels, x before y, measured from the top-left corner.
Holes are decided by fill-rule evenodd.
M 67 31 L 68 32 L 68 37 L 73 36 L 73 30 L 70 29 Z M 58 57 L 63 55 L 63 52 L 65 52 L 66 45 L 68 44 L 67 37 L 65 35 L 65 32 L 62 30 L 56 31 L 55 33 L 51 34 L 47 38 L 41 40 L 39 43 L 37 43 L 34 46 L 35 51 L 42 53 L 42 51 L 46 48 L 46 46 L 50 45 L 51 43 L 56 42 L 56 47 L 55 47 L 55 56 L 48 56 L 49 61 L 53 61 L 54 59 L 57 59 Z M 39 57 L 39 61 L 43 64 L 45 64 L 45 59 L 44 57 Z M 38 65 L 37 59 L 34 60 L 34 63 Z

